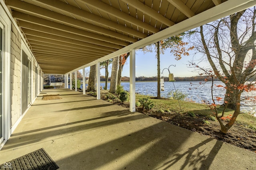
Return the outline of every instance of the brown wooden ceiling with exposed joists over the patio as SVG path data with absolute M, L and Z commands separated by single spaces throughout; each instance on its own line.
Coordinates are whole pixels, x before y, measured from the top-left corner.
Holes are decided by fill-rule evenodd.
M 42 71 L 64 74 L 225 1 L 6 0 L 5 3 Z

